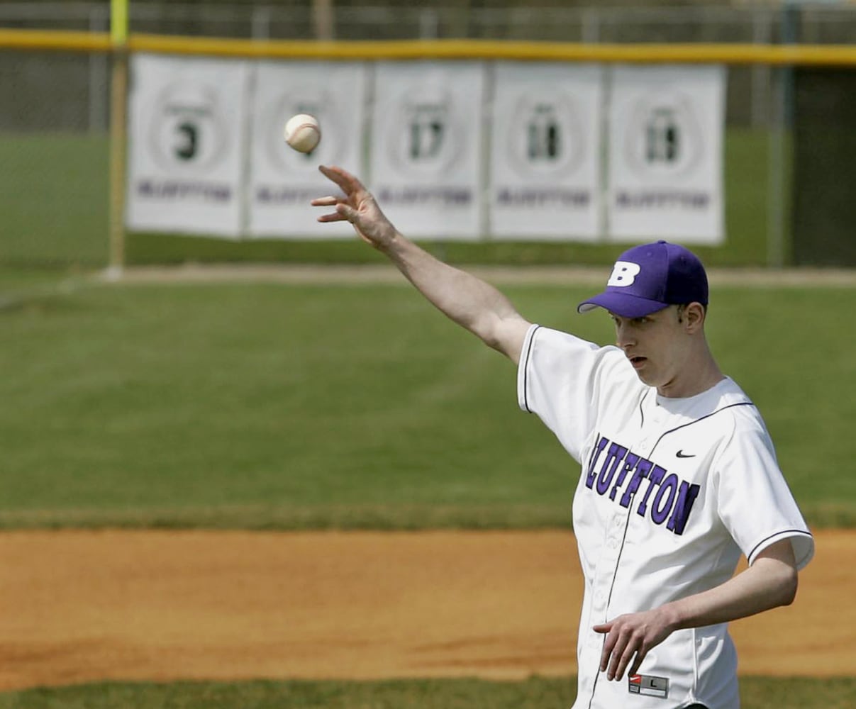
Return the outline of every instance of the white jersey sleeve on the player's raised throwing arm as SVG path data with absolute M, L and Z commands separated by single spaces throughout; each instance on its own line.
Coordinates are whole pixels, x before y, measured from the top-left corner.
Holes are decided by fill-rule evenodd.
M 626 357 L 615 347 L 532 325 L 517 369 L 520 408 L 537 414 L 579 461 L 605 390 L 620 386 L 615 380 L 622 364 Z

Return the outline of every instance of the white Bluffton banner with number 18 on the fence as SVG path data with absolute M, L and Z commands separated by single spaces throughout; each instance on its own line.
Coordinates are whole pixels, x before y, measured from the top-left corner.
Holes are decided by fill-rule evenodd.
M 496 64 L 490 233 L 593 241 L 601 233 L 603 69 Z

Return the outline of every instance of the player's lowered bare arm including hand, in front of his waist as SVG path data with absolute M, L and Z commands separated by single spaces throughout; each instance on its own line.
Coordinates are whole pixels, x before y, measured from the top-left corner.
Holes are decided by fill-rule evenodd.
M 610 680 L 621 679 L 628 666 L 628 675 L 635 675 L 648 651 L 675 630 L 728 623 L 788 606 L 796 592 L 794 549 L 787 539 L 777 541 L 758 554 L 752 566 L 716 588 L 595 625 L 597 633 L 606 635 L 600 670 Z

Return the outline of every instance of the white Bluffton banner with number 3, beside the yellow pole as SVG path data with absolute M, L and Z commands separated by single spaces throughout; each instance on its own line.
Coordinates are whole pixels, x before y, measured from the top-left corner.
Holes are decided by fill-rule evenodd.
M 131 56 L 126 224 L 236 238 L 247 62 Z

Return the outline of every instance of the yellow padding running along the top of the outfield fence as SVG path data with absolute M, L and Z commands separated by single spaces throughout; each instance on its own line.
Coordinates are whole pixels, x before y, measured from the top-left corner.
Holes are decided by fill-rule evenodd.
M 0 29 L 0 50 L 109 51 L 104 32 Z M 856 66 L 851 44 L 574 44 L 432 39 L 276 41 L 130 34 L 132 52 L 281 59 L 506 59 L 519 61 Z

